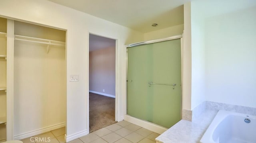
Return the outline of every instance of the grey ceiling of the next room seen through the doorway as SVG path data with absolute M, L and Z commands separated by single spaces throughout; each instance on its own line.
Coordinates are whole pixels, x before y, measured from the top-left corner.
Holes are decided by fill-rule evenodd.
M 89 51 L 96 51 L 110 47 L 116 47 L 116 40 L 90 34 Z

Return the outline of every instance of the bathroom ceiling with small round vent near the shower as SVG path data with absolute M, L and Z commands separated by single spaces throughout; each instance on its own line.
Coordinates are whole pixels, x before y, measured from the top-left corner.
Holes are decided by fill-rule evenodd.
M 50 0 L 142 33 L 184 23 L 190 0 Z M 152 24 L 158 24 L 152 27 Z

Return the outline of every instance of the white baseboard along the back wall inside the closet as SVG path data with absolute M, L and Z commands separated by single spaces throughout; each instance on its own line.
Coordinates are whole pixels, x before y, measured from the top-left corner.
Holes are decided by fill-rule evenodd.
M 29 132 L 26 132 L 26 133 L 22 133 L 20 135 L 14 135 L 14 140 L 25 139 L 27 137 L 32 137 L 34 135 L 38 135 L 38 134 L 41 134 L 41 133 L 52 131 L 54 129 L 58 129 L 58 128 L 65 127 L 65 126 L 66 126 L 66 122 L 63 122 L 63 123 L 59 123 L 59 124 L 56 124 L 56 125 L 51 125 L 51 126 L 48 126 L 48 127 L 44 127 L 44 128 L 41 128 L 41 129 L 36 129 L 34 131 L 29 131 Z

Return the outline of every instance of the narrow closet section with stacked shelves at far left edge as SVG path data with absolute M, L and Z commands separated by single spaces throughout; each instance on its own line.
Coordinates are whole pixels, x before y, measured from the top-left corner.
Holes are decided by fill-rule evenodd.
M 6 29 L 7 20 L 0 18 L 0 142 L 6 141 Z

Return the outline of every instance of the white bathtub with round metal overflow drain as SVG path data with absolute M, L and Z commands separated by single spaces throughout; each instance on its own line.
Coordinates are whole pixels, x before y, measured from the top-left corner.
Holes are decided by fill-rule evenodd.
M 200 142 L 256 143 L 256 116 L 220 110 Z

